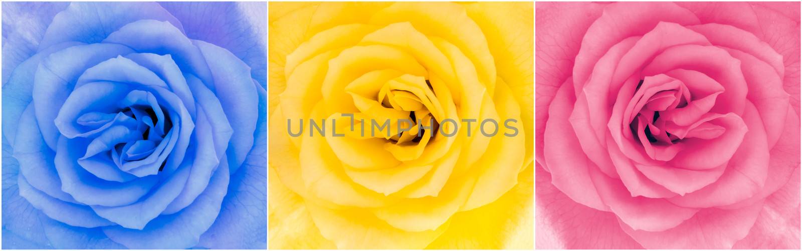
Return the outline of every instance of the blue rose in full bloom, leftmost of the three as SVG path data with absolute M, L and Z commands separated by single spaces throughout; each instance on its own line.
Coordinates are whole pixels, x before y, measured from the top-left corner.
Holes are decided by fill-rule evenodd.
M 265 3 L 2 5 L 2 249 L 265 249 Z

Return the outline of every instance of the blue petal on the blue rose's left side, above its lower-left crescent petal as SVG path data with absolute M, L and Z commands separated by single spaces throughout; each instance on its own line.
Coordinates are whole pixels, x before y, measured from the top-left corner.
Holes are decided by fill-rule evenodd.
M 9 122 L 6 122 L 9 123 Z M 36 126 L 33 105 L 22 113 L 17 131 L 18 144 L 14 145 L 14 159 L 18 161 L 20 175 L 28 177 L 28 183 L 51 197 L 67 202 L 77 202 L 61 190 L 61 180 L 53 165 L 55 152 L 47 147 Z M 3 148 L 5 151 L 6 148 Z M 3 160 L 5 163 L 6 160 Z M 3 164 L 6 168 L 6 164 Z

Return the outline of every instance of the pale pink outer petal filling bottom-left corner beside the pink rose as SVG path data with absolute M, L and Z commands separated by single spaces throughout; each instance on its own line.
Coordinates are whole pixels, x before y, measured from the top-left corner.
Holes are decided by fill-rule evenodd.
M 577 204 L 535 167 L 535 249 L 642 249 L 613 213 Z

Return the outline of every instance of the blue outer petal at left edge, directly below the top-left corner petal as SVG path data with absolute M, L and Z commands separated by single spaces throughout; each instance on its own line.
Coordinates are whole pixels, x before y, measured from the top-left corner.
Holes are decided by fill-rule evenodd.
M 6 2 L 6 4 L 11 4 L 11 2 Z M 48 48 L 48 50 L 40 51 L 30 59 L 27 59 L 25 62 L 19 64 L 18 67 L 13 69 L 9 75 L 6 75 L 6 55 L 3 55 L 4 70 L 2 76 L 3 78 L 8 79 L 8 82 L 4 81 L 2 86 L 3 120 L 18 121 L 19 115 L 22 114 L 22 111 L 28 107 L 28 104 L 33 99 L 31 97 L 34 90 L 34 85 L 32 83 L 34 83 L 34 73 L 36 73 L 39 62 L 41 62 L 42 59 L 45 59 L 47 55 L 51 55 L 51 53 L 54 51 L 59 51 L 63 48 L 72 47 L 77 44 L 78 43 L 62 43 L 57 47 L 51 47 Z M 6 46 L 3 47 L 3 51 L 6 51 L 5 48 L 7 47 L 13 46 L 6 44 Z M 5 52 L 3 53 L 5 54 Z M 10 144 L 14 144 L 14 136 L 17 134 L 17 123 L 2 123 L 2 134 L 9 140 Z

